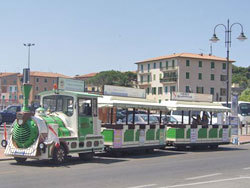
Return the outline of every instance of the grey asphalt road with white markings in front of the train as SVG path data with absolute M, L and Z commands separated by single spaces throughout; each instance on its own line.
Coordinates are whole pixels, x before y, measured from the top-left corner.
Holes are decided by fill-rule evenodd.
M 250 187 L 250 145 L 217 150 L 158 150 L 124 157 L 99 155 L 63 166 L 29 160 L 0 162 L 0 187 L 174 188 Z

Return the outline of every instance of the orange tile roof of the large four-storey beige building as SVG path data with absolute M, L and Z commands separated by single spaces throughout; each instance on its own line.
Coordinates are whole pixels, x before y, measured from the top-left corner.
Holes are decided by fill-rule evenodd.
M 144 62 L 150 62 L 150 61 L 157 61 L 157 60 L 162 60 L 162 59 L 176 58 L 176 57 L 215 60 L 215 61 L 227 61 L 226 58 L 217 57 L 217 56 L 213 56 L 213 55 L 207 55 L 207 54 L 177 53 L 177 54 L 172 54 L 172 55 L 155 57 L 155 58 L 147 59 L 147 60 L 144 60 L 144 61 L 139 61 L 139 62 L 136 62 L 136 64 L 144 63 Z M 230 60 L 230 62 L 235 62 L 235 61 Z

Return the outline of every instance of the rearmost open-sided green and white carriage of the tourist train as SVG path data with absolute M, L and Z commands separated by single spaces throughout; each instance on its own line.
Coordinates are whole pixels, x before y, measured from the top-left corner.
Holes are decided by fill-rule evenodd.
M 224 116 L 229 108 L 213 102 L 168 101 L 164 104 L 170 111 L 181 112 L 180 122 L 167 125 L 168 145 L 216 148 L 230 143 L 231 128 Z

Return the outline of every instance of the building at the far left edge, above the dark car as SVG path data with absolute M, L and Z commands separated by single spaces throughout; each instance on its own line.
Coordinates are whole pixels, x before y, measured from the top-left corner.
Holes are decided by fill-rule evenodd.
M 0 110 L 18 103 L 17 77 L 19 73 L 0 73 Z

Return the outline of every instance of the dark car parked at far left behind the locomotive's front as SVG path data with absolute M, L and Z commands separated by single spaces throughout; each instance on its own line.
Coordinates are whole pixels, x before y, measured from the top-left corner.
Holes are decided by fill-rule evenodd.
M 21 111 L 21 105 L 10 105 L 0 111 L 0 125 L 3 122 L 13 123 L 16 119 L 16 113 Z

